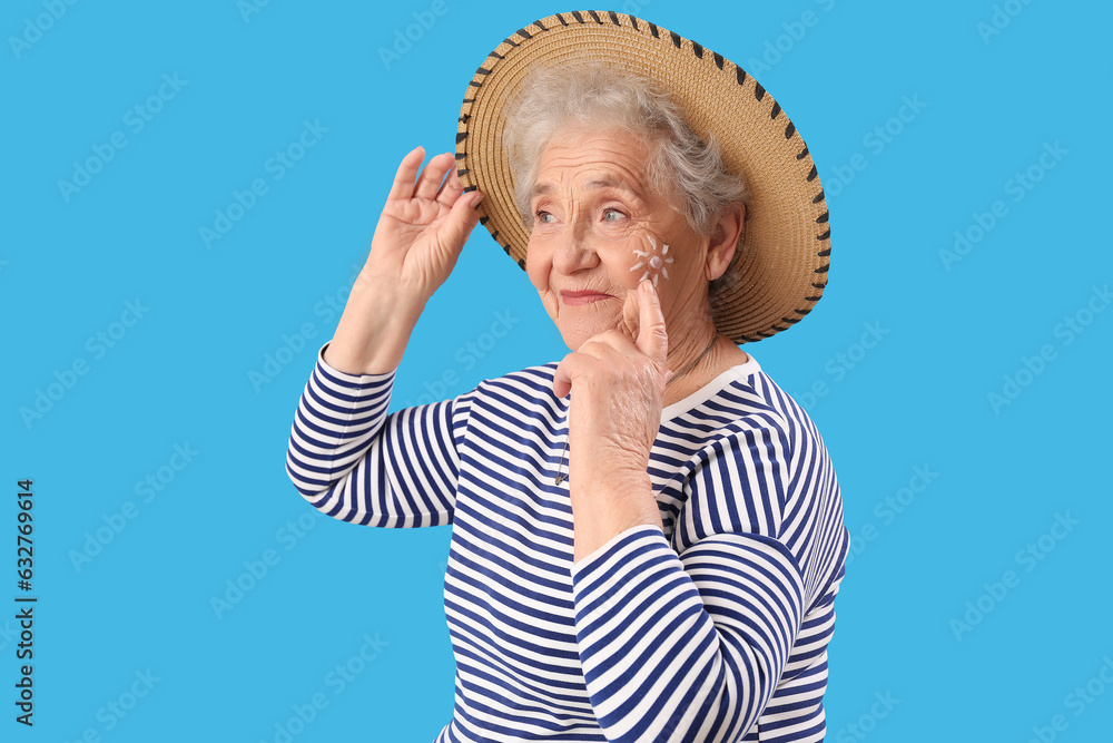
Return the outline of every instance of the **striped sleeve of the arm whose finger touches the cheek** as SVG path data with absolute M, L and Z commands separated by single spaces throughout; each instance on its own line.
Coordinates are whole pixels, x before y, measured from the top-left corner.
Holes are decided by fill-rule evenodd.
M 805 476 L 817 457 L 790 428 L 750 421 L 700 451 L 673 544 L 632 527 L 572 566 L 580 658 L 608 741 L 735 742 L 762 715 L 814 604 L 810 566 L 784 535 L 824 495 Z

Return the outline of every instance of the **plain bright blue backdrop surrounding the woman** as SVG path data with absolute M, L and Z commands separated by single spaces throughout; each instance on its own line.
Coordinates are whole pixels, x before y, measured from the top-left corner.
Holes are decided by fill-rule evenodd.
M 431 741 L 451 717 L 450 529 L 333 521 L 284 471 L 397 160 L 452 149 L 474 68 L 570 9 L 432 4 L 4 3 L 0 600 L 21 593 L 11 496 L 32 478 L 39 604 L 31 730 L 13 722 L 14 609 L 0 613 L 3 740 L 276 741 L 315 694 L 327 706 L 294 725 L 299 743 Z M 748 350 L 812 413 L 855 535 L 829 740 L 1109 740 L 1110 6 L 624 10 L 754 74 L 827 187 L 825 299 Z M 159 99 L 164 75 L 181 82 Z M 317 139 L 279 178 L 270 158 L 306 121 Z M 116 133 L 99 173 L 59 186 Z M 266 193 L 206 245 L 255 179 Z M 510 332 L 492 344 L 496 313 Z M 395 404 L 563 352 L 480 228 Z M 373 659 L 353 662 L 365 645 Z

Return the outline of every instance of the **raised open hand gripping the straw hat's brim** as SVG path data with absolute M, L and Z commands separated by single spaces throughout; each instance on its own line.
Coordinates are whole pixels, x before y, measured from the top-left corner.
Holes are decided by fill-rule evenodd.
M 482 201 L 479 192 L 463 193 L 452 153 L 431 158 L 418 174 L 424 157 L 425 149 L 416 147 L 402 158 L 366 267 L 422 303 L 452 273 Z

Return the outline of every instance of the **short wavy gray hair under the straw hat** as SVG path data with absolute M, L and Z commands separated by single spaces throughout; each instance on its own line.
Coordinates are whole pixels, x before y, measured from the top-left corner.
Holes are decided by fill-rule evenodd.
M 727 173 L 713 136 L 705 143 L 684 123 L 677 104 L 656 82 L 591 59 L 533 72 L 506 108 L 503 144 L 514 174 L 522 222 L 533 226 L 530 198 L 541 154 L 563 131 L 607 127 L 630 131 L 649 148 L 647 177 L 698 234 L 710 236 L 719 213 L 746 203 L 746 184 Z M 737 282 L 739 251 L 711 282 L 711 306 Z

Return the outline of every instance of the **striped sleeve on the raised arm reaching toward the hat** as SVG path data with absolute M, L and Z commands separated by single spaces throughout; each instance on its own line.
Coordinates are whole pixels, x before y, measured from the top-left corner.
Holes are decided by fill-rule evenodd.
M 337 371 L 325 363 L 327 346 L 290 428 L 286 472 L 298 492 L 342 521 L 451 524 L 467 395 L 387 414 L 394 373 Z

